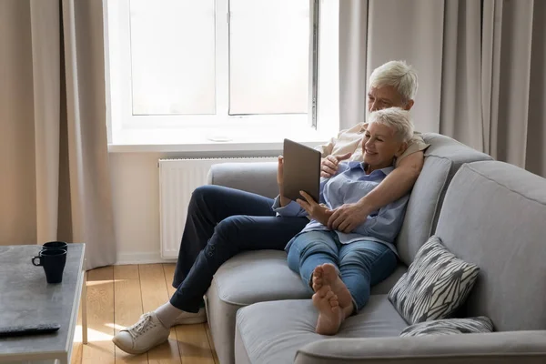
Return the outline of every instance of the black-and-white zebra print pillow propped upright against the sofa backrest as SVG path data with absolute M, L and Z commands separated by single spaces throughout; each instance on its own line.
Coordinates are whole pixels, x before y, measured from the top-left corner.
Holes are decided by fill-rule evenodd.
M 465 263 L 430 237 L 408 271 L 389 291 L 389 301 L 410 325 L 447 319 L 470 293 L 480 268 Z

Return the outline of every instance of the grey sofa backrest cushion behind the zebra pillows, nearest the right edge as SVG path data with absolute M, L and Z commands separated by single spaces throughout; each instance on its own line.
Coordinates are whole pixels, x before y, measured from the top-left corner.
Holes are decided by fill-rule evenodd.
M 546 329 L 546 179 L 502 162 L 464 165 L 435 235 L 480 267 L 463 308 L 495 329 Z

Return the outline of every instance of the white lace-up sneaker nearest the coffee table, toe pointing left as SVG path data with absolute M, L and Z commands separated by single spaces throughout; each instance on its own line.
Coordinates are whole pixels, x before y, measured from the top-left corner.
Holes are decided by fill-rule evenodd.
M 135 325 L 119 331 L 112 341 L 129 354 L 142 354 L 167 341 L 169 333 L 155 312 L 147 312 Z

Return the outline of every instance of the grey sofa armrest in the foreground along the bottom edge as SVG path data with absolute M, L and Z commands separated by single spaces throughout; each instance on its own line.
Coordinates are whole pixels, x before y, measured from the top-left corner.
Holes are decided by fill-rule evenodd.
M 297 364 L 546 363 L 546 330 L 410 338 L 325 339 L 298 349 Z

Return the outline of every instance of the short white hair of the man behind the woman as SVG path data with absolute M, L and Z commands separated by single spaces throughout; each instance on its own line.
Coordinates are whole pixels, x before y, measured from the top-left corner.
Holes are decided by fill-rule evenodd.
M 393 86 L 404 103 L 417 94 L 417 73 L 406 61 L 389 61 L 377 67 L 369 76 L 369 87 Z

